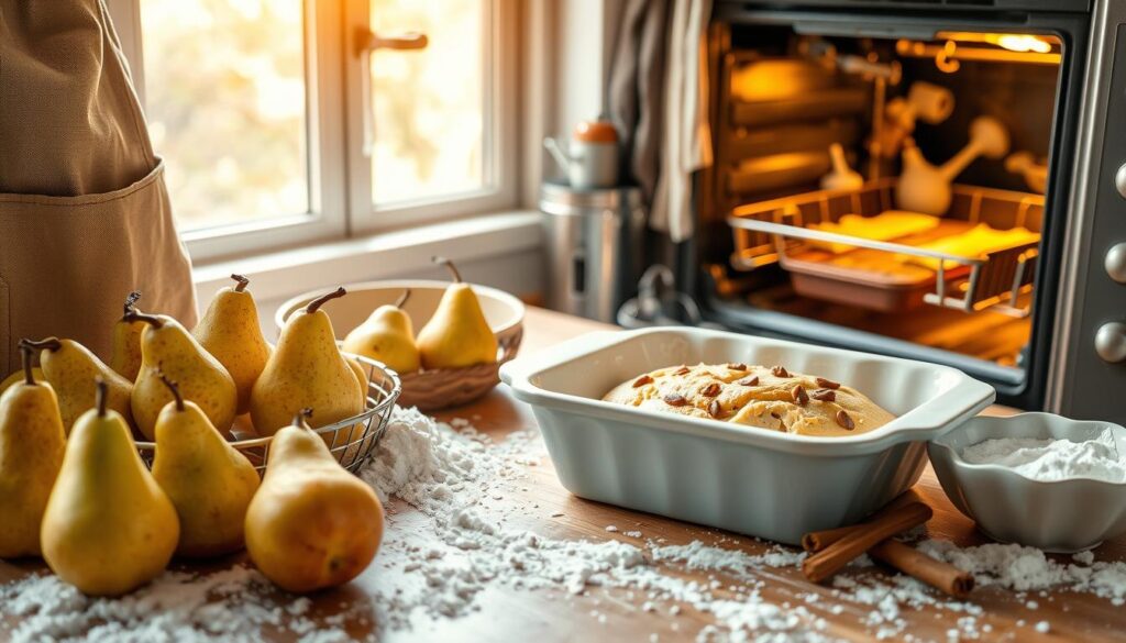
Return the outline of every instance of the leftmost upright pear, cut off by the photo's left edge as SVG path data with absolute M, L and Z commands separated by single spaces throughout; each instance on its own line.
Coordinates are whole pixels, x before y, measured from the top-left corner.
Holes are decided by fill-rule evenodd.
M 34 349 L 20 348 L 24 381 L 0 395 L 0 559 L 39 555 L 39 525 L 66 448 L 55 392 L 36 381 Z

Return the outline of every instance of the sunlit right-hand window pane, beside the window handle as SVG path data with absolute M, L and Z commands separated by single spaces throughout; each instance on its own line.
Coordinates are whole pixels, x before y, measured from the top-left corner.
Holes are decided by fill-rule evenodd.
M 426 50 L 372 55 L 376 207 L 486 187 L 488 2 L 373 0 L 372 30 L 426 34 Z

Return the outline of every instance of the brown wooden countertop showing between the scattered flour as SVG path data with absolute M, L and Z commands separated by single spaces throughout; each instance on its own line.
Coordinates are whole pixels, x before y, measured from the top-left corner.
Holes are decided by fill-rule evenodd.
M 549 311 L 531 309 L 525 323 L 525 339 L 521 354 L 531 354 L 557 341 L 581 334 L 587 331 L 608 328 L 596 322 L 580 320 Z M 1006 413 L 1006 409 L 993 408 L 988 412 Z M 499 386 L 484 399 L 467 407 L 440 413 L 441 419 L 470 418 L 473 425 L 493 439 L 502 439 L 506 435 L 535 426 L 535 419 L 528 407 L 515 401 L 504 386 Z M 512 502 L 522 502 L 530 508 L 517 512 L 509 518 L 510 526 L 526 528 L 544 536 L 555 538 L 586 538 L 589 541 L 619 539 L 637 544 L 636 538 L 629 538 L 622 533 L 606 532 L 607 525 L 617 525 L 623 530 L 640 529 L 646 538 L 663 537 L 664 544 L 688 544 L 699 539 L 705 544 L 718 544 L 725 548 L 739 548 L 748 553 L 762 553 L 769 545 L 752 538 L 722 533 L 716 529 L 670 520 L 647 513 L 619 509 L 608 504 L 582 500 L 564 490 L 555 477 L 548 461 L 540 466 L 529 467 L 531 471 L 525 488 L 524 498 L 513 498 Z M 927 525 L 932 537 L 948 538 L 959 545 L 986 542 L 975 532 L 973 523 L 962 516 L 946 499 L 933 472 L 928 467 L 917 490 L 935 508 L 935 517 Z M 400 501 L 392 501 L 388 507 L 387 537 L 409 537 L 419 546 L 426 546 L 428 541 L 437 536 L 426 528 L 427 518 L 417 510 Z M 513 525 L 515 523 L 515 525 Z M 383 573 L 391 557 L 396 553 L 385 548 L 379 559 L 349 586 L 323 592 L 312 597 L 314 620 L 329 619 L 345 607 L 352 607 L 349 614 L 355 615 L 357 602 L 373 602 L 372 595 L 376 591 L 393 591 L 411 579 L 396 578 Z M 1099 560 L 1126 560 L 1126 538 L 1109 542 L 1097 551 Z M 0 581 L 6 581 L 36 569 L 42 564 L 25 563 L 12 566 L 0 563 Z M 686 572 L 677 572 L 685 577 Z M 403 575 L 403 574 L 399 574 Z M 687 572 L 688 578 L 696 577 L 706 581 L 708 572 Z M 714 574 L 721 581 L 724 575 Z M 797 570 L 771 570 L 762 578 L 769 579 L 762 590 L 765 597 L 778 602 L 790 599 L 797 592 L 817 591 L 816 586 L 802 579 Z M 724 584 L 729 584 L 724 582 Z M 840 602 L 834 599 L 831 590 L 821 588 L 821 600 L 815 606 L 807 606 L 817 616 L 828 622 L 826 635 L 852 641 L 869 640 L 874 629 L 861 625 L 863 614 L 867 606 L 846 604 L 843 611 L 833 614 L 832 606 Z M 640 592 L 638 592 L 640 593 Z M 1036 609 L 1030 609 L 1026 601 L 1035 598 Z M 379 636 L 387 641 L 537 641 L 548 643 L 554 641 L 607 640 L 607 641 L 649 641 L 652 634 L 658 634 L 660 641 L 695 640 L 699 631 L 709 623 L 709 616 L 685 608 L 677 616 L 670 616 L 668 610 L 646 613 L 641 609 L 644 596 L 631 599 L 625 590 L 595 588 L 586 596 L 564 597 L 558 591 L 516 590 L 503 586 L 491 586 L 476 599 L 479 609 L 456 619 L 430 618 L 417 616 L 412 619 L 410 629 L 383 631 Z M 1121 641 L 1126 637 L 1126 610 L 1114 607 L 1109 600 L 1096 598 L 1085 593 L 1052 592 L 1047 597 L 1030 595 L 1024 600 L 1013 592 L 978 588 L 971 600 L 981 605 L 985 615 L 977 618 L 978 628 L 984 624 L 992 626 L 991 632 L 982 632 L 984 641 L 1060 641 L 1065 638 L 1084 641 Z M 591 611 L 605 615 L 605 623 L 591 617 Z M 366 636 L 381 628 L 374 620 L 375 607 L 368 611 L 368 617 L 350 616 L 348 631 L 354 636 Z M 361 611 L 363 613 L 363 611 Z M 923 640 L 946 641 L 947 632 L 957 629 L 957 619 L 964 616 L 956 611 L 936 610 L 930 608 L 901 610 L 901 617 L 909 622 L 904 632 Z M 1034 629 L 1034 624 L 1040 620 L 1051 623 L 1051 633 L 1042 634 Z M 1020 625 L 1018 625 L 1018 622 Z M 274 637 L 274 636 L 271 636 Z M 289 636 L 280 638 L 288 640 Z

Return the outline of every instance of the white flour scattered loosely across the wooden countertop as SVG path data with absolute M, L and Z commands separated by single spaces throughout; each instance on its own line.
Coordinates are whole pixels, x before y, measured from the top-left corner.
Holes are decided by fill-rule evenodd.
M 413 409 L 396 410 L 361 477 L 392 509 L 403 501 L 419 512 L 388 513 L 382 553 L 342 613 L 314 620 L 309 598 L 277 590 L 245 564 L 213 573 L 170 571 L 120 599 L 87 598 L 52 575 L 36 575 L 0 586 L 0 638 L 241 642 L 288 632 L 304 643 L 376 640 L 422 617 L 466 616 L 492 587 L 583 601 L 596 626 L 609 627 L 614 617 L 601 601 L 627 605 L 678 638 L 697 641 L 835 641 L 830 617 L 855 618 L 877 638 L 921 641 L 910 619 L 922 608 L 954 616 L 946 638 L 976 638 L 992 628 L 972 600 L 953 600 L 910 577 L 877 571 L 867 556 L 817 587 L 797 572 L 804 553 L 765 545 L 749 554 L 722 546 L 734 541 L 722 535 L 713 544 L 668 544 L 643 539 L 632 523 L 618 523 L 601 526 L 605 536 L 598 541 L 549 537 L 537 530 L 553 528 L 548 518 L 562 513 L 517 498 L 545 457 L 531 430 L 493 443 L 467 421 L 446 425 Z M 1090 552 L 1057 562 L 1018 545 L 959 548 L 922 541 L 918 546 L 974 573 L 981 587 L 1018 592 L 1031 614 L 1035 600 L 1027 593 L 1046 589 L 1089 592 L 1114 605 L 1126 600 L 1126 563 L 1099 562 Z M 694 580 L 700 574 L 705 580 Z M 370 600 L 357 598 L 367 593 Z M 686 610 L 713 624 L 698 628 L 683 618 Z M 6 616 L 18 617 L 19 625 L 3 625 Z M 1052 631 L 1043 618 L 1029 617 L 1026 625 Z

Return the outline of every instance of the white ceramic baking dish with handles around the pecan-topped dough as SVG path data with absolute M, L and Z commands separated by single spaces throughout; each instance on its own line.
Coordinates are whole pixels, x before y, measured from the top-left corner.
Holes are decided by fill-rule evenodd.
M 601 401 L 642 373 L 700 361 L 821 375 L 899 417 L 867 434 L 810 437 Z M 926 441 L 995 396 L 945 366 L 696 328 L 590 333 L 517 358 L 500 375 L 531 404 L 575 495 L 788 544 L 856 523 L 909 489 Z

